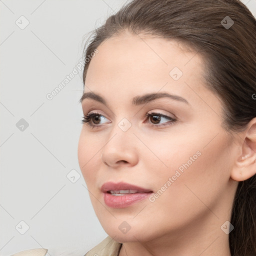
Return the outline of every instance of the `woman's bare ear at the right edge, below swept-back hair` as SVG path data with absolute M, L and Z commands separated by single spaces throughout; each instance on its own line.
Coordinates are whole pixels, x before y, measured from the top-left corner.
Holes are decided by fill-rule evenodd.
M 248 179 L 256 173 L 256 117 L 249 121 L 239 138 L 242 139 L 240 153 L 231 170 L 231 178 L 236 181 Z

